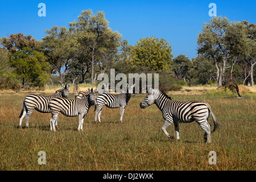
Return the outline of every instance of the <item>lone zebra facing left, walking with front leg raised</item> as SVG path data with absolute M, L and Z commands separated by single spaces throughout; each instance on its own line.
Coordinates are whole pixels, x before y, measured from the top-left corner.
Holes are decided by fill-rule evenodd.
M 158 89 L 148 89 L 148 94 L 141 102 L 140 106 L 144 109 L 147 106 L 156 104 L 158 108 L 162 111 L 164 118 L 164 125 L 162 131 L 169 138 L 174 138 L 173 135 L 167 133 L 166 129 L 172 123 L 174 123 L 176 139 L 179 140 L 179 123 L 189 123 L 196 121 L 196 123 L 205 131 L 204 140 L 210 143 L 210 123 L 208 123 L 208 118 L 212 114 L 214 129 L 215 131 L 219 123 L 214 116 L 210 105 L 203 101 L 174 101 L 171 100 L 165 93 Z M 212 132 L 213 132 L 212 131 Z

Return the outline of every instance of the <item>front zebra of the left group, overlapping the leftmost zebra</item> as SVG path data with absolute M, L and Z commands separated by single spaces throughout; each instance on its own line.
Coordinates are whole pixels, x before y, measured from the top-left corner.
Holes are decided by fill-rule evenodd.
M 56 97 L 49 101 L 49 108 L 51 109 L 51 131 L 56 131 L 55 125 L 59 113 L 62 113 L 68 117 L 75 117 L 79 115 L 79 127 L 78 130 L 82 130 L 85 114 L 88 113 L 90 106 L 94 105 L 95 93 L 93 88 L 88 89 L 88 93 L 84 94 L 82 98 L 77 100 L 71 100 L 63 97 Z

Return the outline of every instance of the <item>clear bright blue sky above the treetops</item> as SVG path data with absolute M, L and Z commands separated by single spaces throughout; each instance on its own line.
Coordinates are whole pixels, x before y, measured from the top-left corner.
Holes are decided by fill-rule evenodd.
M 46 17 L 38 16 L 38 4 L 46 4 Z M 209 22 L 209 3 L 216 3 L 217 16 L 256 23 L 256 1 L 5 1 L 0 0 L 0 37 L 23 32 L 41 40 L 45 30 L 66 26 L 82 10 L 104 11 L 109 27 L 122 34 L 129 44 L 154 35 L 172 46 L 174 57 L 196 57 L 197 34 Z

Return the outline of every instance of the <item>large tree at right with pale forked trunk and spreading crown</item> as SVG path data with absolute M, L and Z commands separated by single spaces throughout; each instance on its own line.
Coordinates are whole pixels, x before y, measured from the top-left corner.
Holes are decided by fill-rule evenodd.
M 233 68 L 238 60 L 243 59 L 242 57 L 251 57 L 251 60 L 254 60 L 254 56 L 249 55 L 253 52 L 255 40 L 251 41 L 248 38 L 253 36 L 247 34 L 249 31 L 246 31 L 245 27 L 246 23 L 230 22 L 228 18 L 218 16 L 213 17 L 209 23 L 204 23 L 203 30 L 197 35 L 197 52 L 212 57 L 217 70 L 218 87 L 225 81 L 228 66 L 231 67 L 232 78 Z

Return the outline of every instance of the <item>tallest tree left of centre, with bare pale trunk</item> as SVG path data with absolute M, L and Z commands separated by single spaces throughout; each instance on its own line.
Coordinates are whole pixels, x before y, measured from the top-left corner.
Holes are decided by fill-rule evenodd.
M 109 28 L 102 11 L 93 14 L 92 10 L 83 10 L 77 19 L 69 26 L 79 43 L 80 60 L 84 65 L 90 64 L 90 84 L 93 84 L 94 66 L 98 63 L 104 69 L 105 62 L 112 59 L 112 53 L 118 48 L 121 35 Z

